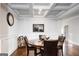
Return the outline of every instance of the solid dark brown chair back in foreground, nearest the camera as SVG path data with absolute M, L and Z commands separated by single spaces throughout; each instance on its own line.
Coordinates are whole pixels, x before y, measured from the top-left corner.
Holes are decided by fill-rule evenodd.
M 58 40 L 44 41 L 44 56 L 57 56 Z

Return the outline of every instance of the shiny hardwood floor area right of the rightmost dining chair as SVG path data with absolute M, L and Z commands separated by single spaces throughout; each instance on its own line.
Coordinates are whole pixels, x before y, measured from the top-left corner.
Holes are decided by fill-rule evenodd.
M 72 43 L 65 42 L 64 56 L 79 56 L 79 46 Z

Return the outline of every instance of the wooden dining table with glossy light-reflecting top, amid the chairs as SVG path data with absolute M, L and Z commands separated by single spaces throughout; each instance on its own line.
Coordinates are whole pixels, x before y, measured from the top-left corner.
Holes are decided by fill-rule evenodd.
M 57 39 L 49 39 L 48 41 L 51 41 L 51 40 L 57 40 Z M 34 49 L 34 55 L 37 56 L 39 53 L 38 53 L 38 49 L 44 49 L 44 41 L 41 41 L 41 40 L 35 40 L 35 41 L 30 41 L 29 44 L 33 45 L 35 47 Z

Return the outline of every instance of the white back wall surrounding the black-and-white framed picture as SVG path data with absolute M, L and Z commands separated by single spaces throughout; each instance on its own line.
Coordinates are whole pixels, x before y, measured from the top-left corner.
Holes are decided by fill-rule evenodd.
M 38 39 L 40 34 L 53 38 L 58 36 L 55 19 L 21 17 L 18 22 L 19 35 L 26 35 L 31 40 Z M 33 32 L 33 24 L 44 24 L 44 32 Z

